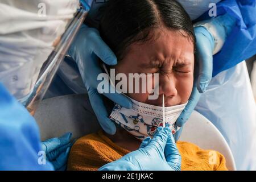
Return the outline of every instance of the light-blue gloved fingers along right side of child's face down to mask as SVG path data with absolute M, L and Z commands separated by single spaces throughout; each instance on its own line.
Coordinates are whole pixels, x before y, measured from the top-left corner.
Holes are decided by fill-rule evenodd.
M 200 93 L 205 92 L 210 80 L 212 79 L 213 65 L 213 36 L 205 27 L 196 27 L 196 61 L 199 64 L 199 76 L 195 79 L 191 96 L 188 104 L 177 119 L 176 125 L 181 127 L 187 122 L 192 111 L 195 109 L 197 102 L 200 99 Z M 175 140 L 179 139 L 182 130 L 175 134 Z

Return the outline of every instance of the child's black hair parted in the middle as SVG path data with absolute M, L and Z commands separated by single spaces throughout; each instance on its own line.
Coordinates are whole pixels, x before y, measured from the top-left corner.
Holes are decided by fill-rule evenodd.
M 100 34 L 118 60 L 132 43 L 154 39 L 152 28 L 179 31 L 195 47 L 192 21 L 175 0 L 110 0 L 103 11 Z

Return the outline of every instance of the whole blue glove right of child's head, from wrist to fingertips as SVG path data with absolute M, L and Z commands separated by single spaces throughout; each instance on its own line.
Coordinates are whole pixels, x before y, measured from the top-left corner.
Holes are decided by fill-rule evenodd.
M 196 61 L 199 63 L 199 77 L 196 79 L 196 86 L 193 86 L 191 97 L 189 98 L 188 104 L 177 119 L 177 126 L 183 126 L 190 117 L 192 111 L 195 109 L 197 102 L 200 99 L 200 93 L 204 93 L 211 78 L 213 72 L 213 51 L 216 44 L 225 42 L 236 24 L 236 19 L 232 18 L 228 14 L 218 16 L 203 21 L 208 24 L 207 26 L 214 27 L 214 32 L 210 32 L 207 26 L 195 27 L 196 35 Z M 203 23 L 202 22 L 202 23 Z M 199 24 L 201 22 L 198 22 Z M 214 36 L 215 35 L 215 39 Z M 218 46 L 221 48 L 220 46 Z M 197 89 L 199 92 L 197 91 Z M 181 130 L 175 134 L 175 140 L 179 139 Z

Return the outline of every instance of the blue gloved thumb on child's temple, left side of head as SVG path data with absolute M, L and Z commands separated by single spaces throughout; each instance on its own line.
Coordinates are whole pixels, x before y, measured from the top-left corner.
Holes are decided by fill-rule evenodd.
M 100 33 L 96 28 L 88 29 L 88 41 L 92 43 L 93 52 L 108 65 L 117 64 L 117 57 L 109 46 L 101 39 Z

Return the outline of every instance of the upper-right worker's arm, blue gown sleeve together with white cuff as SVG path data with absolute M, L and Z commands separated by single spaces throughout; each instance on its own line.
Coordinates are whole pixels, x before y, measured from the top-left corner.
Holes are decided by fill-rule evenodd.
M 217 3 L 217 17 L 200 16 L 214 37 L 213 76 L 256 54 L 256 1 L 223 0 Z M 205 20 L 207 19 L 207 20 Z

